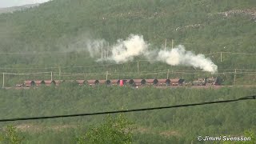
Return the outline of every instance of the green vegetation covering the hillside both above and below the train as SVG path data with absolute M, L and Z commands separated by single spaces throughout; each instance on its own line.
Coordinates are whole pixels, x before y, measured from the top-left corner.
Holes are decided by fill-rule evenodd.
M 191 81 L 206 76 L 219 76 L 226 85 L 234 84 L 234 80 L 239 85 L 255 84 L 256 73 L 249 74 L 250 70 L 256 70 L 255 55 L 223 53 L 221 62 L 221 54 L 218 53 L 256 53 L 255 2 L 53 0 L 26 10 L 0 14 L 0 73 L 53 71 L 54 79 L 102 79 L 106 78 L 106 74 L 82 74 L 108 71 L 108 78 L 117 79 L 166 78 L 166 71 L 160 70 L 170 70 L 169 78 L 186 78 Z M 161 62 L 145 62 L 142 61 L 145 58 L 140 57 L 135 58 L 134 62 L 119 65 L 96 62 L 100 54 L 97 58 L 90 58 L 86 51 L 88 39 L 105 39 L 113 46 L 117 39 L 125 39 L 130 34 L 143 35 L 144 39 L 150 42 L 150 49 L 154 50 L 162 49 L 165 39 L 170 49 L 171 40 L 174 39 L 174 46 L 182 44 L 186 46 L 186 50 L 192 50 L 196 54 L 207 54 L 206 57 L 218 65 L 221 74 L 173 73 L 177 70 L 198 70 L 186 66 L 168 66 Z M 234 69 L 239 69 L 236 70 L 237 74 L 233 74 Z M 117 74 L 138 71 L 154 73 Z M 81 75 L 70 76 L 64 73 Z M 50 73 L 6 74 L 5 86 L 14 86 L 26 79 L 50 79 Z M 122 107 L 136 109 L 169 106 L 240 98 L 251 94 L 256 94 L 256 90 L 254 87 L 246 86 L 220 89 L 183 87 L 165 90 L 144 87 L 134 90 L 129 86 L 90 87 L 63 83 L 59 87 L 40 86 L 30 90 L 1 89 L 0 118 L 79 114 L 120 110 Z M 197 143 L 198 135 L 241 135 L 246 130 L 251 130 L 250 134 L 254 135 L 256 132 L 253 101 L 152 110 L 126 114 L 126 117 L 137 127 L 131 132 L 134 135 L 133 143 Z M 25 137 L 22 139 L 23 143 L 75 143 L 78 142 L 76 138 L 79 136 L 86 138 L 80 138 L 79 142 L 90 142 L 98 138 L 97 136 L 100 137 L 94 137 L 96 130 L 109 130 L 109 126 L 113 124 L 113 119 L 110 118 L 110 121 L 105 123 L 104 118 L 90 116 L 2 122 L 0 126 L 12 125 L 17 128 L 7 128 L 10 137 L 6 138 L 10 141 L 17 136 L 18 133 L 15 131 L 21 130 Z M 91 126 L 95 128 L 90 129 Z M 11 133 L 8 133 L 8 130 Z M 86 135 L 87 130 L 89 133 Z M 114 131 L 107 131 L 108 134 L 113 134 L 112 132 Z M 126 142 L 130 143 L 130 136 L 126 137 L 122 132 L 118 133 L 120 138 L 125 137 Z M 22 137 L 18 135 L 16 140 L 20 142 L 20 138 Z

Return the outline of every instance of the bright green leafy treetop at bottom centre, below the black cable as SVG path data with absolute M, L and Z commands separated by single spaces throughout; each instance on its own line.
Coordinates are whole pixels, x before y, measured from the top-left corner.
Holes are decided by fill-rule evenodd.
M 105 121 L 98 127 L 91 128 L 84 136 L 78 138 L 78 143 L 128 144 L 132 142 L 132 122 L 129 122 L 123 114 L 119 114 L 116 118 L 108 115 Z

